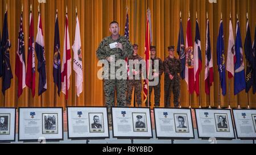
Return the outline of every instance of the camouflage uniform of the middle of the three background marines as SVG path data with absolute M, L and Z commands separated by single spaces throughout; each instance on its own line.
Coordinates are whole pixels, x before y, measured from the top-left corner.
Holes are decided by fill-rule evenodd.
M 154 60 L 159 60 L 159 68 L 155 69 Z M 148 86 L 148 89 L 149 89 L 148 98 L 151 98 L 151 93 L 152 93 L 152 90 L 154 89 L 154 95 L 155 95 L 154 106 L 160 106 L 161 76 L 164 72 L 163 61 L 160 58 L 155 57 L 155 58 L 151 58 L 151 62 L 152 64 L 150 66 L 150 74 L 153 76 L 154 73 L 159 73 L 159 82 L 158 82 L 158 85 L 156 86 Z M 154 81 L 154 79 L 151 79 L 150 81 Z M 147 102 L 148 101 L 146 101 L 146 106 L 147 106 Z M 151 106 L 150 100 L 149 100 L 149 106 Z

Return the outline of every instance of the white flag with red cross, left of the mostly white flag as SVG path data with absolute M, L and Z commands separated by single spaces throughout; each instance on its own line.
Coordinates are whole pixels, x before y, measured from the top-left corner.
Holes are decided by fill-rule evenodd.
M 68 14 L 65 15 L 65 35 L 64 35 L 64 50 L 61 66 L 61 89 L 65 94 L 65 99 L 68 100 L 68 89 L 70 86 L 69 78 L 71 76 L 71 49 L 68 33 Z

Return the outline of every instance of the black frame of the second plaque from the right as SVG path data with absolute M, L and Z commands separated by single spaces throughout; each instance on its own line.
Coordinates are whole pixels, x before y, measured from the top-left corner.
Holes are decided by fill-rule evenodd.
M 224 108 L 194 108 L 195 110 L 195 118 L 196 118 L 196 127 L 197 127 L 197 134 L 198 134 L 198 138 L 199 139 L 202 139 L 202 140 L 207 140 L 209 139 L 210 137 L 203 137 L 203 136 L 200 136 L 199 134 L 199 125 L 198 125 L 198 122 L 197 122 L 197 116 L 196 116 L 196 110 L 228 110 L 230 112 L 230 117 L 231 117 L 231 120 L 230 120 L 230 123 L 232 124 L 232 127 L 233 127 L 233 137 L 217 137 L 215 136 L 216 140 L 233 140 L 233 139 L 236 139 L 236 131 L 234 129 L 234 122 L 233 122 L 233 115 L 232 115 L 232 110 L 231 109 L 224 109 Z M 218 113 L 218 112 L 216 112 Z M 214 116 L 215 117 L 215 116 Z M 215 118 L 214 118 L 214 123 L 215 123 Z M 230 131 L 232 131 L 232 129 L 230 129 Z

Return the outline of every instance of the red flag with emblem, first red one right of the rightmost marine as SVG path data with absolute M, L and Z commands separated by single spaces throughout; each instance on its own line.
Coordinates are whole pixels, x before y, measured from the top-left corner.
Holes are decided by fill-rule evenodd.
M 188 85 L 189 94 L 193 94 L 195 91 L 195 76 L 194 76 L 194 64 L 193 64 L 193 42 L 191 32 L 191 21 L 188 18 L 187 35 L 186 35 L 186 66 L 185 66 L 185 81 Z

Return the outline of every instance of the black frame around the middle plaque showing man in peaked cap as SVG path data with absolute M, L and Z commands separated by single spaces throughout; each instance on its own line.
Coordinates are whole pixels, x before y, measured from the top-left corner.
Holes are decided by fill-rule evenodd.
M 150 123 L 150 127 L 151 127 L 151 136 L 114 136 L 114 125 L 113 125 L 113 108 L 137 108 L 137 109 L 147 109 L 149 114 L 150 114 L 150 121 L 148 123 Z M 113 133 L 113 138 L 117 138 L 117 139 L 152 139 L 153 138 L 153 131 L 152 131 L 152 122 L 151 122 L 151 109 L 150 107 L 120 107 L 120 106 L 113 106 L 111 107 L 111 115 L 112 115 L 112 133 Z M 133 121 L 132 121 L 133 122 Z

